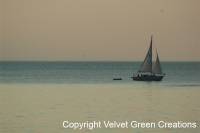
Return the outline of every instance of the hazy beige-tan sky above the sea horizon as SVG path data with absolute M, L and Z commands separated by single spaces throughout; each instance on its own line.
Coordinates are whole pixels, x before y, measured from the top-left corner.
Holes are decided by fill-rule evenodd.
M 200 0 L 0 2 L 0 60 L 200 61 Z

